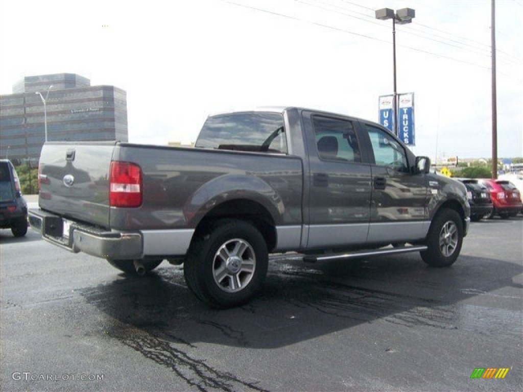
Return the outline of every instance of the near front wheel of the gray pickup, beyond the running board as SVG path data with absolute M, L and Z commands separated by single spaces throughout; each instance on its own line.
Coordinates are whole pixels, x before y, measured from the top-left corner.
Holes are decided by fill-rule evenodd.
M 460 215 L 449 209 L 441 210 L 430 225 L 428 249 L 421 253 L 431 267 L 449 267 L 459 256 L 463 243 L 463 223 Z

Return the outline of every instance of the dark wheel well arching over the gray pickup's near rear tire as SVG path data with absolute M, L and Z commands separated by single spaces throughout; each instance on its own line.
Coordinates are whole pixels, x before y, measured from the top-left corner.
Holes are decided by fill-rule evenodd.
M 222 219 L 236 219 L 248 222 L 258 229 L 265 238 L 269 252 L 276 247 L 276 225 L 267 209 L 252 200 L 229 200 L 215 206 L 200 221 L 195 234 L 207 232 L 212 224 Z

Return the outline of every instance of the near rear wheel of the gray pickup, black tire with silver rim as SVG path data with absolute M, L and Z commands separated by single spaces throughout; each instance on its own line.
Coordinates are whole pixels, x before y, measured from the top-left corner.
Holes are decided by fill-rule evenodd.
M 253 225 L 217 221 L 192 241 L 184 263 L 185 281 L 212 307 L 242 305 L 265 281 L 268 259 L 265 239 Z

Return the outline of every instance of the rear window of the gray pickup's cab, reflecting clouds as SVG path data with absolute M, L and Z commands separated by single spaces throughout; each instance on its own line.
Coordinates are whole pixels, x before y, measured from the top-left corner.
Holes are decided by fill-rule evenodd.
M 195 147 L 286 154 L 283 116 L 272 112 L 241 112 L 209 117 Z

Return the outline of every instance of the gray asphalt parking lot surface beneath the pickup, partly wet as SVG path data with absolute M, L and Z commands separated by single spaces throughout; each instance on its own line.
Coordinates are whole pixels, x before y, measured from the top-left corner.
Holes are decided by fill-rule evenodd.
M 2 390 L 520 391 L 522 240 L 519 215 L 473 223 L 448 269 L 277 256 L 251 303 L 213 310 L 181 267 L 126 278 L 0 230 Z

